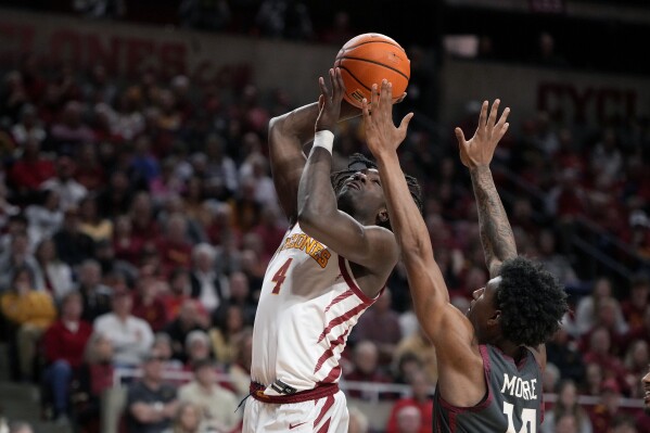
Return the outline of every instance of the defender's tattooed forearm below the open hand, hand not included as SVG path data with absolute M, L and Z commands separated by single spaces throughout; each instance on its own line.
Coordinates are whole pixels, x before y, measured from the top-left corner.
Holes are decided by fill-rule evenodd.
M 494 278 L 499 272 L 501 262 L 517 256 L 514 235 L 489 167 L 476 167 L 471 170 L 471 176 L 485 263 Z

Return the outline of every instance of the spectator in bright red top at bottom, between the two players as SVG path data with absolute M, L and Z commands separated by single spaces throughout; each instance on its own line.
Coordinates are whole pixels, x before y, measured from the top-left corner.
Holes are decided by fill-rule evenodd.
M 411 396 L 395 402 L 388 417 L 386 433 L 399 432 L 397 418 L 405 407 L 415 407 L 420 411 L 419 433 L 433 432 L 433 399 L 430 397 L 432 387 L 426 374 L 423 371 L 416 371 L 411 375 L 409 384 L 411 386 Z

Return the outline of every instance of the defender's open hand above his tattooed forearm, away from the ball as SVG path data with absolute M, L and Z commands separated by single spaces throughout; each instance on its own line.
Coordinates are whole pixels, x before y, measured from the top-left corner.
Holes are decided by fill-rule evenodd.
M 494 156 L 494 151 L 499 140 L 504 137 L 508 130 L 509 124 L 506 123 L 510 109 L 504 110 L 499 122 L 497 120 L 497 113 L 499 111 L 500 101 L 497 99 L 492 104 L 489 111 L 489 117 L 487 116 L 487 107 L 489 103 L 483 102 L 481 107 L 481 115 L 479 116 L 479 126 L 476 132 L 469 141 L 466 140 L 462 129 L 456 128 L 456 138 L 458 139 L 458 147 L 460 149 L 460 161 L 468 168 L 474 168 L 480 166 L 488 166 Z

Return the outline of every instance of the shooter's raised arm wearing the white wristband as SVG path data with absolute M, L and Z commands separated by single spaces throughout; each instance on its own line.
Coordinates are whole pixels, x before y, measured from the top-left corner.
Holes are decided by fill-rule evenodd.
M 319 80 L 320 112 L 316 120 L 316 139 L 305 165 L 298 188 L 298 221 L 310 237 L 324 243 L 352 263 L 367 268 L 370 273 L 387 278 L 397 262 L 397 244 L 393 233 L 378 226 L 374 209 L 353 218 L 339 208 L 330 181 L 332 169 L 333 129 L 340 117 L 345 85 L 341 71 L 330 69 L 330 86 Z M 346 188 L 381 192 L 379 175 L 358 173 Z M 387 213 L 384 205 L 384 217 Z M 381 218 L 381 216 L 380 216 Z M 385 279 L 384 281 L 385 282 Z M 380 284 L 383 285 L 383 282 Z M 377 291 L 377 284 L 371 284 Z M 364 290 L 364 286 L 361 286 Z M 374 295 L 375 293 L 367 293 Z

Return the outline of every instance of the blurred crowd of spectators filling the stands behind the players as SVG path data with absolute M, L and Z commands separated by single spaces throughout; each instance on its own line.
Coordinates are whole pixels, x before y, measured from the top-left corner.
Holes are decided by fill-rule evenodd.
M 224 408 L 248 393 L 256 303 L 286 229 L 266 127 L 291 109 L 281 91 L 266 94 L 254 82 L 196 89 L 153 71 L 130 80 L 109 77 L 101 65 L 50 72 L 30 55 L 4 73 L 2 336 L 12 379 L 41 386 L 44 416 L 97 431 L 116 369 L 139 368 L 142 378 L 128 384 L 126 431 L 237 431 L 241 410 Z M 468 128 L 477 117 L 469 109 L 458 119 Z M 436 259 L 464 309 L 487 273 L 471 184 L 448 129 L 438 137 L 415 125 L 400 157 L 423 187 Z M 496 165 L 548 193 L 532 196 L 495 170 L 518 246 L 581 289 L 575 313 L 548 346 L 556 375 L 544 391 L 560 394 L 549 419 L 557 431 L 569 424 L 574 430 L 563 431 L 604 433 L 623 422 L 620 398 L 642 395 L 650 280 L 642 267 L 628 284 L 592 278 L 576 267 L 568 240 L 585 219 L 609 233 L 595 247 L 607 253 L 613 237 L 648 258 L 648 125 L 575 126 L 539 113 L 520 129 L 504 139 Z M 335 168 L 347 154 L 367 153 L 358 120 L 342 125 Z M 382 395 L 396 399 L 387 431 L 430 431 L 435 349 L 417 324 L 402 266 L 387 286 L 349 336 L 343 380 L 412 384 L 409 398 Z M 168 383 L 169 371 L 194 379 Z M 581 408 L 576 393 L 602 403 Z M 353 415 L 362 431 L 367 420 Z M 628 416 L 633 423 L 638 417 L 639 432 L 650 431 L 647 417 Z

